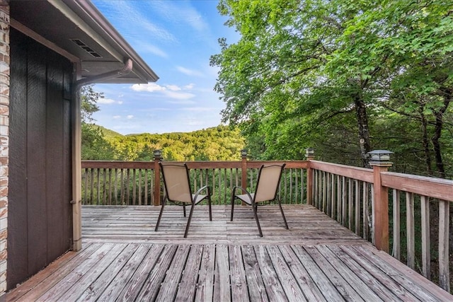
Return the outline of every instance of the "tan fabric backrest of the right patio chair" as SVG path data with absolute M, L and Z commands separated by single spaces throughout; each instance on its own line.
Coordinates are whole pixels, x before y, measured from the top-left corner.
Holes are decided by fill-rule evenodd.
M 282 165 L 261 165 L 256 182 L 255 202 L 266 202 L 277 197 L 278 185 L 282 176 Z

